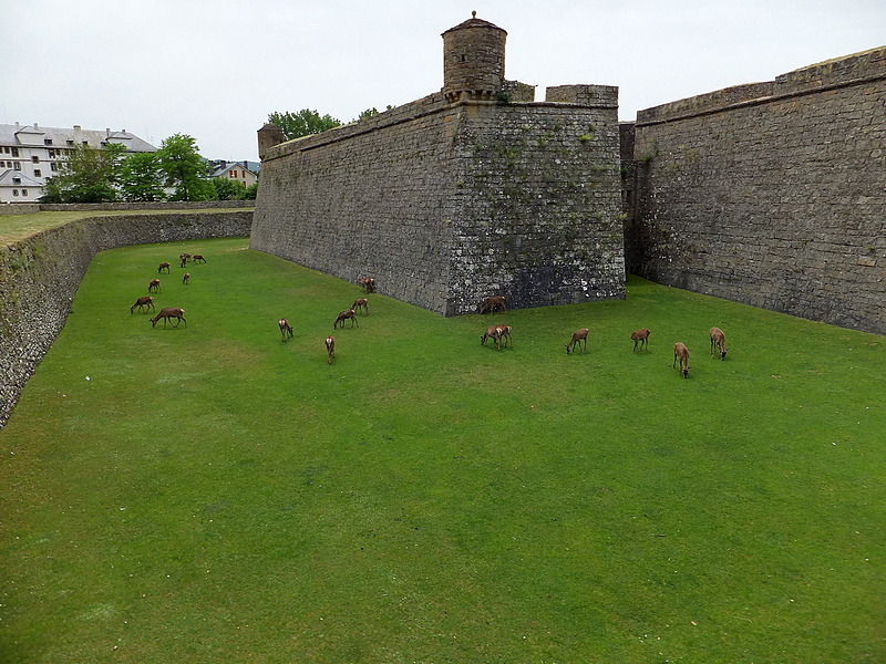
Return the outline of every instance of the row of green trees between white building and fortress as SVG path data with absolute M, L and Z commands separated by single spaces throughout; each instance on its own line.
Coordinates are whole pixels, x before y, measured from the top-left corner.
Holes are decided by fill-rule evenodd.
M 42 203 L 145 203 L 155 200 L 237 200 L 256 197 L 251 187 L 209 178 L 212 167 L 193 136 L 175 134 L 153 153 L 126 153 L 122 145 L 75 145 L 61 170 L 43 186 Z

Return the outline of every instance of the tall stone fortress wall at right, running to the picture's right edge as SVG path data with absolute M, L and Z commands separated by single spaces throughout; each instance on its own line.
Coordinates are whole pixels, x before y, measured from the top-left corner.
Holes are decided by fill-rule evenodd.
M 632 129 L 630 272 L 886 334 L 886 48 L 641 111 Z

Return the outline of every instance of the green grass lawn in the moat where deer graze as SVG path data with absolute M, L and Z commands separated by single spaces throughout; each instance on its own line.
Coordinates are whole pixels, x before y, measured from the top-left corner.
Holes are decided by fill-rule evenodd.
M 187 328 L 130 313 L 162 260 Z M 95 258 L 0 432 L 0 661 L 886 661 L 882 336 L 640 279 L 333 332 L 357 297 L 245 239 Z

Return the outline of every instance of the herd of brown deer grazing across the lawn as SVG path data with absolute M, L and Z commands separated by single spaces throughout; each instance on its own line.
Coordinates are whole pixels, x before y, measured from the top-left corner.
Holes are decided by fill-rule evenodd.
M 185 268 L 187 266 L 187 261 L 190 260 L 193 264 L 205 263 L 206 259 L 196 253 L 192 256 L 190 253 L 182 253 L 178 257 L 179 266 Z M 162 262 L 157 267 L 157 272 L 163 273 L 169 272 L 171 263 Z M 190 280 L 190 273 L 185 272 L 182 278 L 182 283 L 188 284 Z M 375 292 L 375 280 L 371 277 L 358 279 L 358 286 L 363 290 L 364 293 L 374 293 Z M 161 289 L 159 279 L 152 279 L 147 284 L 147 292 L 150 293 L 163 293 Z M 130 308 L 130 313 L 134 313 L 135 310 L 138 312 L 147 312 L 147 311 L 155 311 L 154 308 L 154 298 L 152 295 L 143 295 L 140 297 L 135 303 Z M 491 298 L 486 298 L 483 300 L 477 307 L 477 313 L 480 314 L 493 314 L 493 313 L 503 313 L 507 311 L 507 304 L 505 298 L 502 295 L 493 295 Z M 339 325 L 341 329 L 344 329 L 346 321 L 351 321 L 351 328 L 359 328 L 360 323 L 357 320 L 357 314 L 362 313 L 363 315 L 369 315 L 369 299 L 368 298 L 357 298 L 353 303 L 346 309 L 344 311 L 339 312 L 336 319 L 332 321 L 332 329 L 337 330 Z M 151 319 L 152 326 L 156 326 L 157 322 L 163 320 L 163 326 L 166 326 L 166 322 L 172 322 L 173 326 L 177 328 L 179 323 L 184 322 L 185 326 L 187 326 L 187 320 L 185 319 L 185 310 L 179 309 L 176 307 L 166 307 L 159 310 L 159 313 L 156 313 Z M 289 339 L 292 339 L 292 325 L 289 324 L 289 321 L 285 318 L 281 318 L 277 322 L 277 326 L 280 330 L 280 336 L 284 342 Z M 480 343 L 483 346 L 486 346 L 486 342 L 492 340 L 493 344 L 495 345 L 495 350 L 501 351 L 502 347 L 507 347 L 508 345 L 513 349 L 514 341 L 512 339 L 513 328 L 511 325 L 488 325 L 486 331 L 480 336 Z M 566 354 L 571 354 L 576 351 L 581 351 L 583 353 L 587 351 L 588 347 L 588 328 L 580 328 L 573 332 L 573 336 L 569 341 L 565 344 L 566 345 Z M 727 359 L 727 338 L 723 331 L 720 328 L 711 328 L 710 329 L 710 339 L 711 339 L 711 357 L 714 357 L 717 353 L 720 354 L 720 360 Z M 630 335 L 630 340 L 633 342 L 633 352 L 641 352 L 643 350 L 648 350 L 649 347 L 649 329 L 648 328 L 640 328 L 636 332 L 632 332 Z M 331 334 L 323 340 L 323 344 L 326 345 L 327 352 L 327 363 L 332 362 L 336 357 L 336 339 Z M 673 344 L 673 362 L 671 363 L 672 369 L 678 369 L 679 362 L 679 370 L 680 375 L 684 378 L 689 377 L 689 349 L 682 342 L 677 342 Z

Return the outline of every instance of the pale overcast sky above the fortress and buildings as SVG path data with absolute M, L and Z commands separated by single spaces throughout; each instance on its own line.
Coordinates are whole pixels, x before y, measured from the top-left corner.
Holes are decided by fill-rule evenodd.
M 886 0 L 0 0 L 0 122 L 256 160 L 271 112 L 347 122 L 440 90 L 440 34 L 472 10 L 507 31 L 508 80 L 617 85 L 621 120 L 886 45 Z

